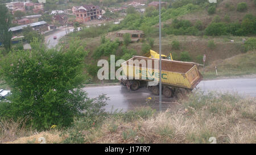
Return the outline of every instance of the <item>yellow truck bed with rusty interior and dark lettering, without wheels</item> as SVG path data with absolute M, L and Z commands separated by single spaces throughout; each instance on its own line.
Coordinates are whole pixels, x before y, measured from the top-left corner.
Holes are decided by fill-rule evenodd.
M 131 60 L 145 63 L 129 64 L 129 61 Z M 152 61 L 152 66 L 148 66 L 148 62 L 150 61 Z M 123 62 L 123 73 L 129 79 L 146 81 L 153 81 L 155 79 L 156 81 L 159 81 L 159 69 L 155 69 L 155 61 L 158 62 L 159 60 L 156 58 L 133 56 L 130 60 Z M 175 87 L 194 89 L 202 79 L 198 66 L 199 64 L 194 62 L 162 59 L 162 83 Z

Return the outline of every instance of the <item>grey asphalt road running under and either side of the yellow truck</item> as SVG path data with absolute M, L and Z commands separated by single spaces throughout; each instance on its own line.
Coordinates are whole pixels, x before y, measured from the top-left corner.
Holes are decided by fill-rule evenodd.
M 243 96 L 256 97 L 256 78 L 237 78 L 237 79 L 218 79 L 201 81 L 197 89 L 207 91 L 217 91 L 221 93 L 238 93 Z M 106 94 L 110 100 L 105 107 L 106 111 L 122 110 L 123 112 L 133 110 L 136 107 L 150 106 L 159 109 L 158 96 L 152 95 L 146 88 L 137 91 L 128 91 L 125 86 L 104 86 L 104 87 L 85 87 L 88 96 L 95 98 L 100 94 Z M 152 101 L 146 103 L 146 98 L 151 97 Z M 163 102 L 172 102 L 173 98 L 164 98 Z M 162 103 L 165 110 L 174 106 L 175 103 Z

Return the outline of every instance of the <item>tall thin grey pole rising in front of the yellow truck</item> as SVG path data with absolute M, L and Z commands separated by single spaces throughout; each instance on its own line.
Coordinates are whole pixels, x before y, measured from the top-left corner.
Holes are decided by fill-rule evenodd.
M 159 0 L 159 111 L 162 111 L 162 22 L 161 0 Z

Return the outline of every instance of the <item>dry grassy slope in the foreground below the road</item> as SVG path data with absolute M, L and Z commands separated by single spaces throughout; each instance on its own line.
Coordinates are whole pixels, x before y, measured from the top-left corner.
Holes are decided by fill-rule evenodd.
M 63 143 L 67 138 L 71 138 L 70 143 L 93 144 L 210 143 L 210 137 L 216 137 L 217 143 L 256 143 L 255 98 L 196 92 L 177 104 L 178 110 L 156 114 L 149 108 L 129 114 L 110 114 L 100 124 L 88 129 L 80 120 L 67 129 L 68 134 L 67 131 L 53 130 L 11 143 L 39 143 L 39 137 L 46 137 L 46 143 Z

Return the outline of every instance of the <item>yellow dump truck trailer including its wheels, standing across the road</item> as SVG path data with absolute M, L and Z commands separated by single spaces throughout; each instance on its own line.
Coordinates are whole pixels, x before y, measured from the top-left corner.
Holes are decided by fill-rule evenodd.
M 129 64 L 130 61 L 140 63 Z M 143 61 L 146 64 L 143 64 Z M 159 95 L 159 77 L 161 77 L 162 93 L 165 97 L 170 98 L 177 95 L 186 95 L 203 78 L 199 72 L 199 64 L 195 62 L 162 59 L 161 76 L 159 65 L 156 66 L 155 63 L 159 63 L 158 58 L 133 56 L 121 64 L 123 76 L 119 78 L 120 82 L 127 86 L 129 90 L 136 91 L 141 87 L 147 87 L 154 95 Z M 150 84 L 153 81 L 156 81 L 156 85 Z

